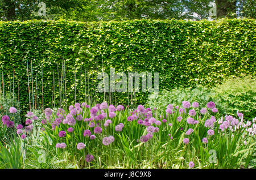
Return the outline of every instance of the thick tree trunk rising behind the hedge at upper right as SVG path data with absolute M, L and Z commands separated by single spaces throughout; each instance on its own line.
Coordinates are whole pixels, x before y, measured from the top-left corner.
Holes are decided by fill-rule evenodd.
M 217 17 L 234 17 L 236 16 L 236 0 L 216 0 Z

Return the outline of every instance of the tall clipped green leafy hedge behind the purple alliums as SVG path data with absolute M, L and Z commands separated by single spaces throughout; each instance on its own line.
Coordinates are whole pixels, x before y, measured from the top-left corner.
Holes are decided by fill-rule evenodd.
M 160 91 L 196 84 L 212 87 L 229 76 L 255 76 L 255 29 L 254 19 L 0 22 L 0 68 L 5 74 L 6 91 L 13 91 L 15 68 L 15 93 L 19 86 L 23 108 L 28 108 L 27 60 L 29 71 L 32 60 L 34 91 L 35 76 L 38 78 L 40 105 L 43 65 L 45 107 L 52 106 L 53 70 L 55 105 L 59 103 L 57 69 L 61 76 L 63 58 L 67 98 L 72 103 L 75 71 L 76 101 L 79 101 L 85 97 L 85 77 L 89 76 L 90 92 L 94 93 L 96 75 L 102 66 L 109 74 L 110 67 L 115 67 L 115 72 L 159 72 Z M 88 88 L 86 91 L 88 94 Z M 147 93 L 135 96 L 137 103 L 143 103 Z M 93 97 L 102 99 L 104 95 L 96 93 Z M 127 104 L 127 93 L 114 93 L 113 101 Z

